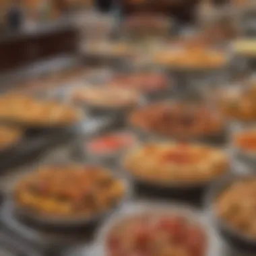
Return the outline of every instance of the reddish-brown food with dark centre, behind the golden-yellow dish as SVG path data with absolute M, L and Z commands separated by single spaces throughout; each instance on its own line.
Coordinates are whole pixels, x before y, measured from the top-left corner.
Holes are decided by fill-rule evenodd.
M 162 102 L 135 110 L 129 123 L 141 131 L 185 139 L 217 135 L 224 131 L 224 121 L 205 105 Z

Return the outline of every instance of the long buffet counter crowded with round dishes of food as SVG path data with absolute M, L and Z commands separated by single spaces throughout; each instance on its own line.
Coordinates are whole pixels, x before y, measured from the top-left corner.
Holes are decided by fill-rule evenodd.
M 255 42 L 137 17 L 0 40 L 0 254 L 255 255 Z

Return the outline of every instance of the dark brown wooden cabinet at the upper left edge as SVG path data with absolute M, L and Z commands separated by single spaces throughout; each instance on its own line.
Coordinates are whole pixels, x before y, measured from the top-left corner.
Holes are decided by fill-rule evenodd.
M 0 73 L 77 51 L 78 32 L 73 26 L 18 33 L 0 36 Z

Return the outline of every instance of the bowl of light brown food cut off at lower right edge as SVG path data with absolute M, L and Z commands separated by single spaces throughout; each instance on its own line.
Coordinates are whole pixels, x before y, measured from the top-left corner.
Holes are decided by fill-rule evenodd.
M 255 175 L 236 174 L 217 183 L 206 197 L 216 229 L 236 251 L 256 251 L 255 187 Z

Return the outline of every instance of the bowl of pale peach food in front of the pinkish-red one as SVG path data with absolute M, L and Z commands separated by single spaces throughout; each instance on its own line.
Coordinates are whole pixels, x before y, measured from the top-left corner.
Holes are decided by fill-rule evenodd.
M 106 86 L 75 87 L 69 92 L 70 100 L 84 106 L 92 114 L 124 114 L 139 104 L 137 92 Z

